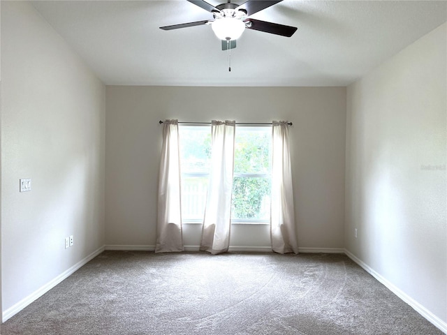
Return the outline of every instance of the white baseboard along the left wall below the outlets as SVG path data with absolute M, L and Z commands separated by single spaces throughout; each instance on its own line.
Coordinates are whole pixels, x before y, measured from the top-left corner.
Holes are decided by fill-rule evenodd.
M 56 278 L 52 279 L 52 281 L 49 281 L 45 285 L 43 285 L 41 288 L 38 288 L 38 290 L 34 291 L 29 295 L 28 297 L 25 297 L 24 299 L 17 302 L 17 304 L 11 306 L 10 308 L 6 309 L 6 311 L 3 311 L 1 315 L 1 322 L 6 322 L 9 318 L 13 317 L 18 312 L 22 311 L 23 308 L 31 304 L 34 300 L 42 297 L 46 292 L 54 288 L 57 284 L 61 283 L 61 281 L 64 281 L 64 279 L 68 278 L 68 276 L 71 276 L 76 270 L 80 269 L 83 265 L 86 265 L 87 262 L 95 258 L 97 255 L 102 253 L 104 251 L 104 247 L 101 246 L 101 248 L 98 248 L 96 251 L 88 255 L 86 258 L 80 260 L 77 262 L 73 267 L 67 269 L 66 271 L 62 272 L 57 276 Z

